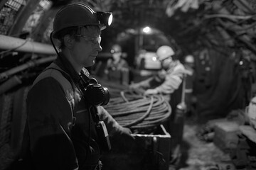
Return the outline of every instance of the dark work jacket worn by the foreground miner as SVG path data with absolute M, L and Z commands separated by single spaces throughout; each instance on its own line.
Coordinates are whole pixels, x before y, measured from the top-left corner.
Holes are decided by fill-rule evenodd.
M 86 69 L 82 72 L 89 76 Z M 87 102 L 72 83 L 78 79 L 68 60 L 59 57 L 34 81 L 27 96 L 23 137 L 23 155 L 33 169 L 87 169 L 99 162 L 95 111 L 88 112 Z M 118 130 L 118 123 L 102 109 L 107 128 Z

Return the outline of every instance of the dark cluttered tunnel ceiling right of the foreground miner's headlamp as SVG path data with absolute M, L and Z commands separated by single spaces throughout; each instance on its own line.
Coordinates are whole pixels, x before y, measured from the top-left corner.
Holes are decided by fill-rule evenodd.
M 174 38 L 183 50 L 201 47 L 255 49 L 253 0 L 87 1 L 95 10 L 112 11 L 110 37 L 127 28 L 151 26 Z

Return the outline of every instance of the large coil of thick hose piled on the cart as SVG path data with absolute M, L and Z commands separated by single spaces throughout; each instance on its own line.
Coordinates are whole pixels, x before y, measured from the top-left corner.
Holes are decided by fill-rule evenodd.
M 144 96 L 140 89 L 101 82 L 110 90 L 110 102 L 104 108 L 123 127 L 134 132 L 150 132 L 168 120 L 171 106 L 162 95 Z

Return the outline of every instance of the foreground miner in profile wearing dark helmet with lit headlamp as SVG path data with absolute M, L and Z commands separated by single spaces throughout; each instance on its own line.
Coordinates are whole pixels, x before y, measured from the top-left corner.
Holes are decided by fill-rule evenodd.
M 99 117 L 110 134 L 131 137 L 102 107 L 110 99 L 108 91 L 85 69 L 102 50 L 106 24 L 101 21 L 85 4 L 68 4 L 56 14 L 52 35 L 60 41 L 58 58 L 36 78 L 27 96 L 21 153 L 26 169 L 100 169 L 102 150 L 110 145 L 98 132 L 97 125 L 104 128 Z

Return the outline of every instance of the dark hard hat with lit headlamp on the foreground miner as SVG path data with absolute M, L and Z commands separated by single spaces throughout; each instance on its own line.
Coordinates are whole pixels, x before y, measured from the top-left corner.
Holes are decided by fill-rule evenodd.
M 73 3 L 60 8 L 53 21 L 53 38 L 64 28 L 74 26 L 99 26 L 104 30 L 112 23 L 112 13 L 94 11 L 90 6 Z

